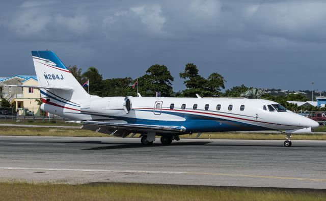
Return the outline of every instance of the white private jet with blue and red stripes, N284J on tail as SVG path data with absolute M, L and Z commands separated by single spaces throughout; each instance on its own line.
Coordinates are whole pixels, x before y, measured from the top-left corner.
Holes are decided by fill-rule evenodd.
M 82 128 L 126 137 L 141 133 L 143 145 L 162 144 L 202 132 L 278 130 L 311 132 L 317 122 L 268 100 L 246 98 L 98 97 L 89 95 L 53 51 L 32 51 L 41 109 L 83 123 Z

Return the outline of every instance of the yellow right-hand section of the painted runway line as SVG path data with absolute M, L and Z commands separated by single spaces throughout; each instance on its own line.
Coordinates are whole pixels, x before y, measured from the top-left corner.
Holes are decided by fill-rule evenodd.
M 310 179 L 310 178 L 278 177 L 278 176 L 262 176 L 262 175 L 241 175 L 241 174 L 224 174 L 224 173 L 195 173 L 195 172 L 186 172 L 185 174 L 326 182 L 326 179 Z

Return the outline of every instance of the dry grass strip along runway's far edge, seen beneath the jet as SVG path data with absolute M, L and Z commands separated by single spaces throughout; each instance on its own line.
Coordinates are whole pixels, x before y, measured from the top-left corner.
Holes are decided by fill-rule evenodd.
M 112 137 L 112 135 L 96 133 L 79 128 L 31 128 L 31 127 L 0 127 L 0 135 L 23 136 L 71 136 L 71 137 Z M 195 138 L 193 135 L 181 135 L 181 138 Z M 138 137 L 139 134 L 134 137 Z M 201 139 L 285 139 L 284 133 L 203 133 Z M 293 134 L 293 140 L 326 140 L 326 134 Z

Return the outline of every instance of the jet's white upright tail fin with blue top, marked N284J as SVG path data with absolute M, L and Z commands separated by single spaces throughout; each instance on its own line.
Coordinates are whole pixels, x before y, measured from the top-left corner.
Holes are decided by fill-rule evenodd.
M 70 73 L 55 52 L 48 50 L 32 51 L 32 56 L 38 82 L 41 86 L 48 87 L 51 94 L 58 94 L 58 96 L 66 100 L 89 97 L 82 85 Z M 72 90 L 63 91 L 60 88 L 70 88 Z M 46 97 L 46 94 L 47 91 L 41 90 L 42 97 Z

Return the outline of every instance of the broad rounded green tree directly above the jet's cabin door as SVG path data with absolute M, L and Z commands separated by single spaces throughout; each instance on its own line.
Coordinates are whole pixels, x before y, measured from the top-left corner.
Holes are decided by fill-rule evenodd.
M 146 70 L 146 74 L 138 78 L 138 88 L 142 96 L 155 96 L 160 92 L 162 97 L 173 95 L 172 77 L 164 65 L 155 64 Z

